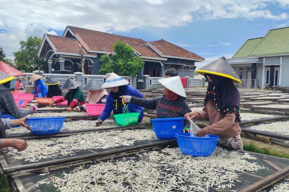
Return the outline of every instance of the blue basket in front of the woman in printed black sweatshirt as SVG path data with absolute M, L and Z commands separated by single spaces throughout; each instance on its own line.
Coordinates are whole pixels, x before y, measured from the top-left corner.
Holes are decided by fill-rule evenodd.
M 184 129 L 184 117 L 151 119 L 158 139 L 175 139 L 175 134 Z

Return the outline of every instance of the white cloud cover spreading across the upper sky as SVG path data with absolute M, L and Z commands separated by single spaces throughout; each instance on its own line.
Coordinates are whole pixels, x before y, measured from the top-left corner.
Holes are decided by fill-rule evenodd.
M 0 34 L 0 47 L 8 55 L 17 51 L 19 41 L 29 35 L 56 35 L 50 29 L 63 30 L 67 25 L 113 33 L 134 28 L 168 29 L 220 18 L 284 20 L 287 13 L 273 14 L 268 5 L 289 5 L 288 0 L 0 0 L 0 4 L 0 29 L 10 31 Z

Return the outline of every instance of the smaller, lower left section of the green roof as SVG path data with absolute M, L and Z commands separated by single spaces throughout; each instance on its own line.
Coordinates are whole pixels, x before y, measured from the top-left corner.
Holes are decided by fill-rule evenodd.
M 248 39 L 232 58 L 248 57 L 261 40 L 262 37 Z

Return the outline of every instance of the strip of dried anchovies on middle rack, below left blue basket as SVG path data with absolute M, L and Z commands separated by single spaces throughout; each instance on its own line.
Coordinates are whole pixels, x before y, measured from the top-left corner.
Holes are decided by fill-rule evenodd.
M 122 145 L 133 145 L 138 140 L 156 139 L 152 130 L 125 130 L 101 133 L 71 135 L 27 140 L 27 149 L 18 152 L 9 147 L 8 155 L 14 159 L 36 162 L 40 159 L 75 155 L 75 152 L 86 149 L 108 149 Z

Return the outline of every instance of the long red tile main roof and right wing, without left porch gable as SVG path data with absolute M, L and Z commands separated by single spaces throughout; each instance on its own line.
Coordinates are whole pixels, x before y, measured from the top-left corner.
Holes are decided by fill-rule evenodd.
M 147 42 L 142 39 L 114 35 L 74 26 L 67 27 L 75 35 L 77 35 L 77 37 L 84 43 L 88 50 L 113 52 L 112 47 L 114 43 L 117 39 L 120 39 L 121 41 L 131 45 L 137 52 L 141 54 L 141 56 L 160 58 L 159 54 L 153 51 L 150 47 L 144 45 Z M 152 41 L 150 43 L 153 44 L 153 46 L 164 55 L 204 60 L 204 58 L 164 40 Z

